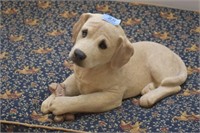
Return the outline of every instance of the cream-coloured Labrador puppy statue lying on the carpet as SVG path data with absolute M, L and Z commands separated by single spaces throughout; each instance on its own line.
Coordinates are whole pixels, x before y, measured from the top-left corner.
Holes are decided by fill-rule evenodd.
M 75 23 L 74 73 L 61 83 L 64 96 L 51 94 L 42 103 L 43 113 L 103 112 L 140 94 L 140 105 L 151 107 L 181 90 L 187 70 L 178 55 L 158 43 L 130 43 L 121 26 L 102 16 L 84 13 Z

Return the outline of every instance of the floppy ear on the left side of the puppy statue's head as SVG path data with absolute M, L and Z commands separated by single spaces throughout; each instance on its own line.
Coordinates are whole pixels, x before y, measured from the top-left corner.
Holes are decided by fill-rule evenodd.
M 85 22 L 88 20 L 88 18 L 91 16 L 91 13 L 83 13 L 79 20 L 74 24 L 72 29 L 72 42 L 74 43 L 76 41 L 76 38 L 78 36 L 79 31 L 81 30 L 81 27 L 85 24 Z

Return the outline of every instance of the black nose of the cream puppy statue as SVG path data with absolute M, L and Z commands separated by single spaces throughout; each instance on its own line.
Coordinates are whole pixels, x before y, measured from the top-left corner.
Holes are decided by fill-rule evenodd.
M 87 56 L 85 55 L 85 53 L 79 49 L 75 49 L 74 50 L 74 54 L 71 57 L 71 60 L 77 64 L 80 65 L 81 61 L 83 61 Z

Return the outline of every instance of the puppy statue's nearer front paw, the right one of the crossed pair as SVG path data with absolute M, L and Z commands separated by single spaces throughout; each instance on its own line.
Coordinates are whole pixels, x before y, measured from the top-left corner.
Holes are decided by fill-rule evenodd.
M 49 110 L 54 114 L 54 115 L 62 115 L 65 112 L 65 106 L 63 103 L 63 97 L 56 97 L 54 100 L 51 101 Z

